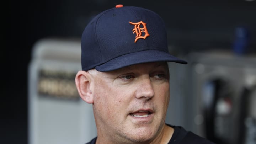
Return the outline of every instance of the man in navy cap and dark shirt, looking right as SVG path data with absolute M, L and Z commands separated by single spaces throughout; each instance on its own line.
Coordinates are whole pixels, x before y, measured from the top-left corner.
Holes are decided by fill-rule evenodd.
M 182 127 L 165 124 L 169 54 L 159 15 L 139 7 L 98 14 L 81 38 L 79 95 L 93 106 L 97 137 L 89 144 L 210 144 Z

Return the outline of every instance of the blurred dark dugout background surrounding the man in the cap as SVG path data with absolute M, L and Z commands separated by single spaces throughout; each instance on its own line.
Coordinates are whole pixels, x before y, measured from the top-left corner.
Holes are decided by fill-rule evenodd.
M 85 143 L 96 135 L 91 106 L 74 87 L 80 37 L 117 4 L 158 13 L 170 52 L 166 122 L 219 144 L 256 142 L 256 1 L 9 1 L 1 34 L 1 143 Z M 4 6 L 4 5 L 3 5 Z

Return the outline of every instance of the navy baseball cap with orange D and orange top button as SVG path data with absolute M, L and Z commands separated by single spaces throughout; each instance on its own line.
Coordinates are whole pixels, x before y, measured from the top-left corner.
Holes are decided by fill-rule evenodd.
M 81 52 L 84 71 L 148 62 L 187 64 L 169 53 L 162 18 L 141 7 L 117 5 L 95 16 L 82 34 Z

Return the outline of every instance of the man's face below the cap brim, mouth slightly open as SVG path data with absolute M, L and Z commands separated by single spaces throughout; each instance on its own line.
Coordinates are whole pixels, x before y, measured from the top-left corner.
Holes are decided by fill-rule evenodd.
M 167 63 L 144 63 L 92 73 L 98 134 L 123 142 L 157 138 L 169 103 Z

